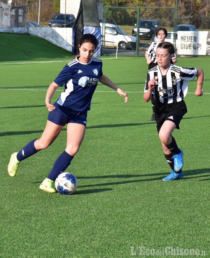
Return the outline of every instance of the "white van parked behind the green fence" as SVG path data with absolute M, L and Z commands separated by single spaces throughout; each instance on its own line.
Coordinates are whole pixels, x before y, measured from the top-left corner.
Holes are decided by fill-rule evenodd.
M 136 48 L 136 37 L 129 36 L 117 25 L 104 23 L 104 29 L 101 26 L 101 39 L 104 40 L 105 47 L 119 47 L 120 49 Z M 104 37 L 103 37 L 104 33 Z

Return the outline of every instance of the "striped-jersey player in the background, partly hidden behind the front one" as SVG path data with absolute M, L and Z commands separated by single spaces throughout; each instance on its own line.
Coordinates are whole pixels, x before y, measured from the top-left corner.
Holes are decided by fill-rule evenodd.
M 167 38 L 167 35 L 168 35 L 168 32 L 167 32 L 167 30 L 165 28 L 159 28 L 156 31 L 157 41 L 153 41 L 150 44 L 150 46 L 147 48 L 146 53 L 145 53 L 147 64 L 149 65 L 148 66 L 148 70 L 150 70 L 151 68 L 157 66 L 157 59 L 156 59 L 157 46 L 161 42 L 165 41 L 165 38 Z M 171 58 L 171 64 L 175 64 L 176 62 L 177 62 L 177 59 L 176 59 L 176 54 L 174 52 L 174 56 Z M 152 103 L 153 114 L 149 118 L 149 121 L 155 121 L 156 100 L 155 100 L 153 95 L 151 97 L 151 103 Z

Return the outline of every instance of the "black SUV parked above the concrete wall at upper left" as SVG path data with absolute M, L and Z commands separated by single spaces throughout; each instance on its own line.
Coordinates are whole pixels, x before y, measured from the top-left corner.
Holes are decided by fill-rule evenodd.
M 66 20 L 66 23 L 65 23 Z M 52 20 L 48 22 L 48 27 L 68 27 L 72 28 L 76 22 L 73 14 L 57 13 Z

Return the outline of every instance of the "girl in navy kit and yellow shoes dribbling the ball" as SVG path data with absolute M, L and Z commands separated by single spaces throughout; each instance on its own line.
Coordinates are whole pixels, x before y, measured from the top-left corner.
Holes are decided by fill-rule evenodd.
M 22 160 L 53 143 L 64 125 L 67 124 L 66 149 L 57 158 L 52 170 L 39 187 L 46 192 L 55 193 L 55 179 L 70 165 L 83 141 L 87 112 L 90 110 L 92 95 L 98 82 L 125 96 L 125 103 L 128 101 L 127 93 L 103 75 L 101 60 L 93 57 L 97 44 L 98 41 L 94 35 L 84 34 L 78 46 L 80 54 L 69 62 L 50 84 L 45 101 L 49 110 L 45 130 L 40 139 L 29 142 L 19 152 L 11 155 L 8 164 L 10 176 L 15 176 L 17 167 Z M 60 94 L 54 104 L 51 104 L 50 101 L 55 90 L 62 85 L 65 85 L 64 92 Z

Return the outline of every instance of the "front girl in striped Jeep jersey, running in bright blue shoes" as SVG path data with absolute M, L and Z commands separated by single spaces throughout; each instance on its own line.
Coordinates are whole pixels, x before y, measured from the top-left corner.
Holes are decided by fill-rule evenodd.
M 187 80 L 197 76 L 196 96 L 202 96 L 203 70 L 199 68 L 183 68 L 171 64 L 174 46 L 170 42 L 162 42 L 157 47 L 157 66 L 147 73 L 143 99 L 148 102 L 152 93 L 157 100 L 155 120 L 165 158 L 172 171 L 162 180 L 175 180 L 183 178 L 183 152 L 176 144 L 172 132 L 179 129 L 187 107 L 183 98 L 187 94 Z

